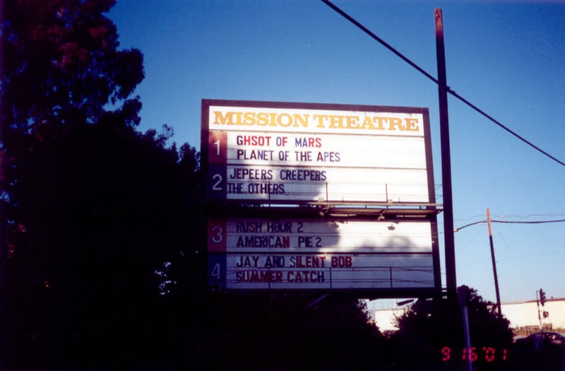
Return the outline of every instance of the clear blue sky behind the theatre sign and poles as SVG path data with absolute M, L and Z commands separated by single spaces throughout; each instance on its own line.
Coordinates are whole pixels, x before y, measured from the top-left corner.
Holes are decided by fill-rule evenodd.
M 434 8 L 448 86 L 565 162 L 565 3 L 343 1 L 343 9 L 432 76 Z M 121 48 L 145 56 L 140 130 L 172 126 L 200 148 L 201 100 L 428 107 L 441 202 L 437 87 L 321 1 L 119 0 Z M 454 225 L 565 219 L 565 166 L 450 96 Z M 439 217 L 443 251 L 443 220 Z M 501 300 L 565 298 L 565 223 L 492 226 Z M 458 285 L 495 300 L 487 225 L 455 235 Z M 443 254 L 442 281 L 445 285 Z

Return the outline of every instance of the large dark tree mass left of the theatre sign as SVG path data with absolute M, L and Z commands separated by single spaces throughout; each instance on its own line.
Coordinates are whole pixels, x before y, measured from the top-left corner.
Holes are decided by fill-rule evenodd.
M 167 348 L 164 294 L 198 277 L 198 153 L 136 131 L 143 56 L 113 4 L 3 3 L 3 368 L 142 364 Z

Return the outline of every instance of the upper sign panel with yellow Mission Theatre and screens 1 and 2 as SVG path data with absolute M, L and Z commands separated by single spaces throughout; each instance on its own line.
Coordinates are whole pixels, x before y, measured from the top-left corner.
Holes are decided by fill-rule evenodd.
M 208 201 L 432 201 L 426 109 L 203 100 Z

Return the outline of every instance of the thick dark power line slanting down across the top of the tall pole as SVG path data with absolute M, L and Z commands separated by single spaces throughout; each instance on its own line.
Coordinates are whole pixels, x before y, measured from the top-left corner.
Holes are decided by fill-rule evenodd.
M 393 52 L 394 54 L 396 54 L 400 59 L 402 59 L 403 61 L 405 61 L 406 63 L 410 64 L 410 66 L 412 66 L 413 68 L 417 69 L 417 71 L 419 71 L 420 73 L 422 73 L 424 76 L 426 76 L 427 78 L 429 78 L 430 80 L 434 81 L 434 83 L 436 83 L 436 85 L 439 85 L 439 81 L 434 78 L 434 76 L 432 76 L 430 73 L 427 73 L 427 71 L 425 71 L 424 69 L 422 69 L 422 67 L 418 66 L 417 64 L 415 64 L 413 61 L 411 61 L 410 59 L 408 59 L 408 57 L 405 57 L 404 54 L 398 52 L 398 50 L 394 49 L 391 45 L 389 45 L 387 42 L 385 42 L 384 40 L 381 39 L 381 37 L 375 35 L 374 33 L 372 33 L 368 28 L 366 28 L 364 25 L 362 25 L 361 23 L 357 22 L 357 20 L 355 20 L 354 18 L 352 18 L 349 14 L 345 13 L 345 11 L 343 11 L 342 9 L 338 8 L 338 6 L 335 6 L 331 1 L 329 0 L 321 0 L 323 1 L 323 3 L 325 3 L 327 6 L 329 6 L 330 8 L 332 8 L 334 11 L 336 11 L 337 13 L 339 13 L 341 16 L 343 16 L 343 18 L 349 20 L 351 23 L 353 23 L 354 25 L 357 26 L 357 28 L 359 28 L 360 30 L 362 30 L 364 33 L 366 33 L 367 35 L 369 35 L 370 37 L 372 37 L 374 40 L 376 40 L 377 42 L 379 42 L 381 45 L 383 45 L 383 47 L 386 47 L 386 49 L 390 50 L 391 52 Z M 489 114 L 487 114 L 486 112 L 484 112 L 483 110 L 480 110 L 479 107 L 473 105 L 471 102 L 469 102 L 468 100 L 466 100 L 465 98 L 463 98 L 461 95 L 459 95 L 458 93 L 456 93 L 455 91 L 451 90 L 450 87 L 447 87 L 447 93 L 453 95 L 453 97 L 457 98 L 458 100 L 460 100 L 461 102 L 465 103 L 465 105 L 468 105 L 469 107 L 471 107 L 473 110 L 475 110 L 476 112 L 482 114 L 482 116 L 486 117 L 487 119 L 489 119 L 490 121 L 494 122 L 494 124 L 500 126 L 502 129 L 506 130 L 507 132 L 509 132 L 510 134 L 512 134 L 513 136 L 515 136 L 517 139 L 523 141 L 524 143 L 528 144 L 528 146 L 534 148 L 536 151 L 542 153 L 543 155 L 546 155 L 547 157 L 551 158 L 552 160 L 554 160 L 555 162 L 559 163 L 560 165 L 565 166 L 565 163 L 557 158 L 555 158 L 554 156 L 550 155 L 549 153 L 547 153 L 546 151 L 542 150 L 540 147 L 535 146 L 535 144 L 531 143 L 530 141 L 524 139 L 522 136 L 516 134 L 516 132 L 512 131 L 511 129 L 509 129 L 508 127 L 504 126 L 504 124 L 501 124 L 501 122 L 499 122 L 498 120 L 494 119 L 494 117 L 490 116 Z

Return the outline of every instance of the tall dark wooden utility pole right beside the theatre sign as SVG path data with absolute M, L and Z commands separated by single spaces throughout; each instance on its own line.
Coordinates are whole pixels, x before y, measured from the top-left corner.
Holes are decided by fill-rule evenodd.
M 436 19 L 436 56 L 439 97 L 439 131 L 441 137 L 441 183 L 444 189 L 444 238 L 446 255 L 446 288 L 448 298 L 457 298 L 455 239 L 453 237 L 453 195 L 451 194 L 451 151 L 449 149 L 449 115 L 447 109 L 446 53 L 444 20 L 441 8 L 434 12 Z

